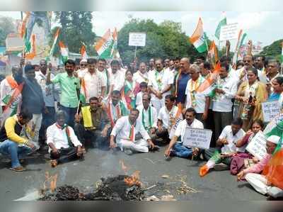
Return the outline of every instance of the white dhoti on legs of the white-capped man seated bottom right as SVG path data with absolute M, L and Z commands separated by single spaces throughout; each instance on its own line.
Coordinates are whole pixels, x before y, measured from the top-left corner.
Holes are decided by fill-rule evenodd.
M 267 179 L 261 174 L 248 173 L 245 178 L 250 185 L 253 186 L 255 191 L 258 191 L 260 194 L 267 194 L 268 190 L 271 188 L 267 186 Z

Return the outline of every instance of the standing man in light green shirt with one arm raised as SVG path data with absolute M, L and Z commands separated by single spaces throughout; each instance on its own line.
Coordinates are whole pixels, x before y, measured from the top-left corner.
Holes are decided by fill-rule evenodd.
M 67 123 L 74 127 L 74 116 L 79 106 L 80 81 L 78 77 L 74 76 L 74 60 L 67 60 L 64 67 L 66 72 L 57 74 L 53 79 L 50 79 L 50 71 L 48 70 L 47 84 L 59 84 L 61 89 L 60 110 L 67 113 Z

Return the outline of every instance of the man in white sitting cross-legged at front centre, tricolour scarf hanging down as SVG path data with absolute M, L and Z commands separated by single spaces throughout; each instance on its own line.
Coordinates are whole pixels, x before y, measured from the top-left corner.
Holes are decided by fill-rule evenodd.
M 127 155 L 132 155 L 133 151 L 149 152 L 149 149 L 154 149 L 154 143 L 142 123 L 137 120 L 138 117 L 139 111 L 132 109 L 129 116 L 117 120 L 110 135 L 111 148 L 118 146 Z

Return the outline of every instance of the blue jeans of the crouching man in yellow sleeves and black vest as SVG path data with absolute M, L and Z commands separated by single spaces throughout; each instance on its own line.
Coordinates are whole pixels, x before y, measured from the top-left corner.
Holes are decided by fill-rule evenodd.
M 18 157 L 28 155 L 31 152 L 33 152 L 33 150 L 30 147 L 19 147 L 18 143 L 11 140 L 4 140 L 4 142 L 0 144 L 0 153 L 11 156 L 12 168 L 21 166 Z

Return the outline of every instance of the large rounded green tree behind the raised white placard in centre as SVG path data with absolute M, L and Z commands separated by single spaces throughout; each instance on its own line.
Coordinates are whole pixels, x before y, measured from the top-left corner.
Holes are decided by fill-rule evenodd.
M 145 32 L 146 46 L 137 47 L 139 62 L 148 62 L 152 57 L 173 58 L 191 57 L 192 60 L 198 55 L 187 35 L 182 32 L 181 23 L 163 21 L 159 25 L 153 20 L 140 20 L 132 18 L 118 33 L 118 50 L 125 64 L 134 60 L 134 46 L 129 46 L 130 32 Z

